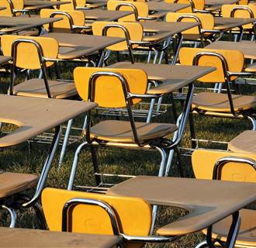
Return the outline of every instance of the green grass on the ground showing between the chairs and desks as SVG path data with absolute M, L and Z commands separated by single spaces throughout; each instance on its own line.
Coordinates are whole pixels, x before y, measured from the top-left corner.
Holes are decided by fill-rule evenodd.
M 67 74 L 71 74 L 67 72 Z M 2 93 L 6 92 L 8 88 L 8 77 L 2 79 L 0 88 Z M 245 91 L 254 94 L 253 88 L 246 88 Z M 177 103 L 177 105 L 179 105 Z M 95 119 L 99 116 L 95 115 Z M 167 122 L 172 119 L 171 109 L 161 116 L 161 118 L 154 119 L 154 121 Z M 76 125 L 81 124 L 82 119 L 76 120 Z M 195 131 L 196 136 L 206 140 L 225 140 L 229 141 L 237 134 L 245 129 L 251 129 L 250 123 L 244 120 L 234 119 L 217 119 L 206 117 L 195 117 Z M 10 129 L 7 126 L 7 129 Z M 64 157 L 64 163 L 61 169 L 57 170 L 57 162 L 60 155 L 61 146 L 58 148 L 54 163 L 50 169 L 49 177 L 47 178 L 47 186 L 55 188 L 67 188 L 67 181 L 71 171 L 71 164 L 74 158 L 74 150 L 78 143 L 74 143 L 67 147 L 67 153 Z M 185 136 L 182 140 L 182 146 L 190 147 L 189 126 L 185 131 Z M 214 144 L 206 144 L 206 147 L 223 148 L 226 146 L 216 146 Z M 33 143 L 29 148 L 28 143 L 23 143 L 19 146 L 0 151 L 0 170 L 13 171 L 19 173 L 40 174 L 43 167 L 43 162 L 47 156 L 48 146 L 44 144 Z M 113 148 L 99 148 L 99 165 L 101 171 L 113 174 L 143 174 L 143 175 L 157 175 L 160 164 L 159 153 L 154 151 L 141 150 L 123 150 Z M 185 171 L 186 177 L 194 177 L 192 172 L 192 164 L 190 157 L 182 157 L 182 167 Z M 178 169 L 175 166 L 175 159 L 171 168 L 171 177 L 178 177 Z M 95 184 L 94 176 L 92 174 L 92 160 L 88 149 L 81 152 L 78 164 L 78 172 L 76 174 L 74 184 L 92 185 Z M 175 190 L 175 189 L 168 189 Z M 185 190 L 185 188 L 184 188 Z M 33 192 L 31 192 L 32 194 Z M 171 220 L 177 219 L 178 216 L 184 214 L 181 210 L 175 208 L 159 209 L 157 215 L 157 226 L 163 226 Z M 8 225 L 9 218 L 6 212 L 0 212 L 0 226 Z M 36 219 L 32 211 L 26 210 L 19 212 L 17 227 L 23 228 L 37 228 Z M 192 247 L 199 243 L 204 236 L 201 232 L 192 235 L 184 236 L 176 240 L 174 243 L 163 245 L 150 245 L 154 247 L 168 246 L 168 247 Z

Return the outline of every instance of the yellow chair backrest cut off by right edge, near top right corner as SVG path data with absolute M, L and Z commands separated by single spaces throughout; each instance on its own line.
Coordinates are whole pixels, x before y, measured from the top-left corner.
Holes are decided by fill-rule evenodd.
M 221 13 L 227 18 L 254 18 L 256 17 L 256 5 L 223 5 Z M 244 25 L 243 28 L 251 29 L 252 24 Z

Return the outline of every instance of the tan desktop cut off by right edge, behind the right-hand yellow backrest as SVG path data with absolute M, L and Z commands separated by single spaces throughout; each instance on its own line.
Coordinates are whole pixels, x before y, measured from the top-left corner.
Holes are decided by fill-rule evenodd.
M 221 50 L 240 50 L 242 53 L 244 53 L 245 58 L 256 60 L 256 43 L 254 41 L 216 41 L 209 44 L 206 48 Z

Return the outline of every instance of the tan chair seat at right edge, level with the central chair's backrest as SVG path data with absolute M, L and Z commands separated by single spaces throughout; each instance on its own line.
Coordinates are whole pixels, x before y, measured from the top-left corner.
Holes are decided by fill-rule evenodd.
M 232 95 L 232 98 L 236 112 L 243 112 L 256 107 L 256 97 L 252 95 Z M 193 98 L 192 108 L 230 113 L 230 102 L 227 94 L 201 92 Z

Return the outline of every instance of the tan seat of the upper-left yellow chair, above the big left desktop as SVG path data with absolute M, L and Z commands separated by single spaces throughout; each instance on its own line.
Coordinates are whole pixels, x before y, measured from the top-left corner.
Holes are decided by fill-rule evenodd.
M 52 98 L 63 99 L 77 95 L 74 83 L 63 81 L 48 81 Z M 13 88 L 14 95 L 47 98 L 47 91 L 43 79 L 33 78 L 17 84 Z

